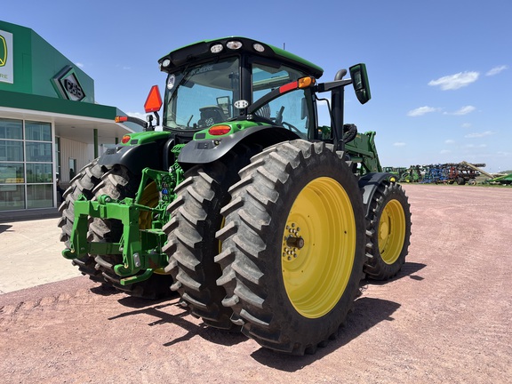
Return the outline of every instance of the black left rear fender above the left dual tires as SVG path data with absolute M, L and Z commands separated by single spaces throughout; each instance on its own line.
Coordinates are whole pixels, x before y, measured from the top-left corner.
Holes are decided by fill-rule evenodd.
M 100 165 L 122 164 L 135 174 L 140 174 L 146 167 L 162 169 L 162 143 L 149 142 L 135 146 L 116 146 L 108 148 L 98 158 Z

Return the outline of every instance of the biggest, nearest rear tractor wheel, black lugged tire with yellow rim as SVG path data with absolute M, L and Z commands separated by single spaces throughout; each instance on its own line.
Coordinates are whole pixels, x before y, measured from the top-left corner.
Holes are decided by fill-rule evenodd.
M 337 336 L 364 275 L 356 178 L 342 153 L 305 140 L 266 149 L 240 177 L 217 233 L 223 304 L 262 346 L 314 353 Z

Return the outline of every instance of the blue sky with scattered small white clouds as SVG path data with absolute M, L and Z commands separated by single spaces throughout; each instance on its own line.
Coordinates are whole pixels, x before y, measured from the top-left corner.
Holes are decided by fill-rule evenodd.
M 512 2 L 368 0 L 4 2 L 95 81 L 96 100 L 142 113 L 157 60 L 185 44 L 248 36 L 324 68 L 365 62 L 372 100 L 346 92 L 347 123 L 376 131 L 385 166 L 462 160 L 512 170 Z M 161 87 L 162 89 L 162 87 Z

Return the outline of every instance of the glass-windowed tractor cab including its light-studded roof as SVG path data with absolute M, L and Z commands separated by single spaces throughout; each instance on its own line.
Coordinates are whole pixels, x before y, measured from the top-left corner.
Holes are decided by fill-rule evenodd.
M 286 92 L 250 108 L 285 84 L 322 76 L 322 68 L 284 50 L 230 37 L 188 45 L 159 63 L 168 73 L 164 129 L 201 131 L 214 124 L 252 120 L 286 127 L 304 138 L 315 130 L 310 88 Z

